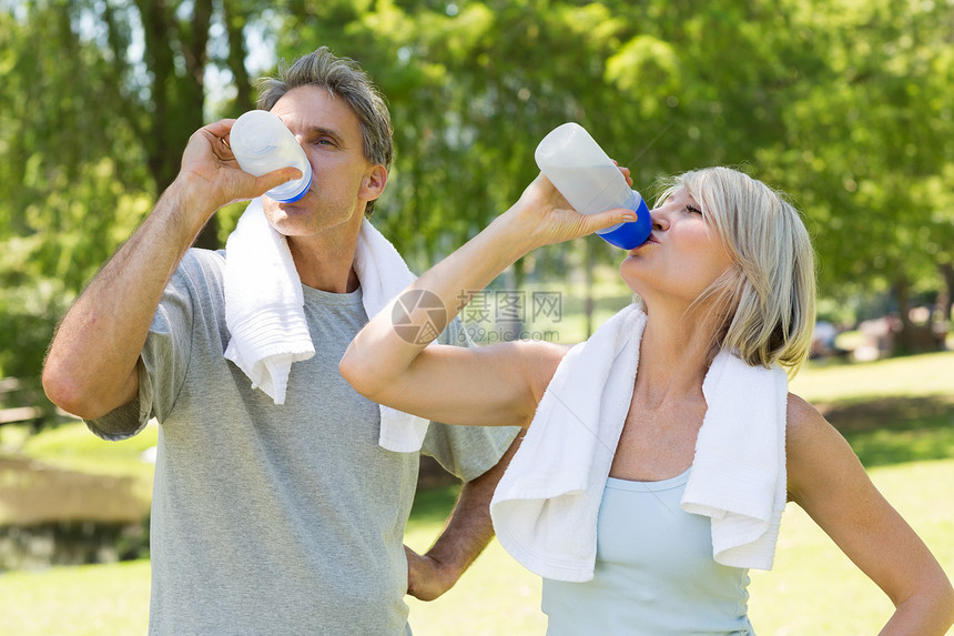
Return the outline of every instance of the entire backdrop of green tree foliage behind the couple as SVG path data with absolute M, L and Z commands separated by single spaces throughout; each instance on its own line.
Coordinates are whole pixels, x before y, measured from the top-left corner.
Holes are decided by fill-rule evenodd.
M 0 373 L 38 373 L 55 317 L 189 135 L 251 108 L 271 60 L 321 44 L 389 100 L 397 158 L 376 223 L 416 270 L 515 201 L 537 142 L 575 120 L 647 199 L 657 176 L 711 164 L 791 192 L 823 294 L 893 290 L 903 310 L 943 289 L 938 267 L 954 285 L 952 31 L 954 6 L 920 0 L 4 3 Z M 597 239 L 552 246 L 512 283 L 619 256 Z

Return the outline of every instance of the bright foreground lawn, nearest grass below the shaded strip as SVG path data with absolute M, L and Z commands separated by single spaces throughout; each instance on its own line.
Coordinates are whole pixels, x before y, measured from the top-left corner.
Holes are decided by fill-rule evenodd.
M 954 460 L 871 471 L 954 575 Z M 453 487 L 427 493 L 416 506 L 407 543 L 426 549 L 453 505 Z M 875 634 L 891 603 L 794 505 L 785 511 L 775 567 L 753 572 L 750 613 L 765 635 Z M 433 603 L 409 598 L 415 636 L 537 636 L 546 632 L 540 579 L 495 541 L 450 592 Z M 149 562 L 0 575 L 2 633 L 22 636 L 143 634 L 149 606 Z

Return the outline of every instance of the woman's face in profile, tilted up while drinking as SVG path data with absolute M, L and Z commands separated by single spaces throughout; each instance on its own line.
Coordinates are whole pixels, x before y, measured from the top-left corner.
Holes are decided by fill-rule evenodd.
M 732 259 L 684 188 L 650 215 L 652 234 L 620 265 L 622 280 L 648 303 L 657 297 L 691 304 Z

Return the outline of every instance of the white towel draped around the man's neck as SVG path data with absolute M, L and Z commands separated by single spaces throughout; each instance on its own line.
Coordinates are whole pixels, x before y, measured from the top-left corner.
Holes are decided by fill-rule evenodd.
M 305 320 L 302 281 L 285 236 L 265 218 L 262 200 L 248 203 L 225 244 L 225 322 L 232 337 L 225 357 L 275 404 L 285 403 L 292 364 L 315 354 Z M 354 269 L 368 317 L 414 282 L 394 245 L 362 222 Z M 382 447 L 420 450 L 428 421 L 380 407 Z

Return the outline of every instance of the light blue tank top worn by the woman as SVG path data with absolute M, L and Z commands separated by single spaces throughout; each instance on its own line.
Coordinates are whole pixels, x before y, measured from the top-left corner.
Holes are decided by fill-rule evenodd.
M 593 579 L 544 579 L 548 636 L 754 634 L 749 571 L 712 558 L 709 517 L 679 505 L 688 481 L 609 477 Z

